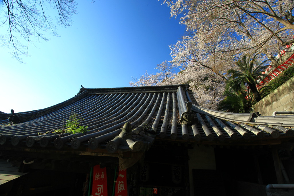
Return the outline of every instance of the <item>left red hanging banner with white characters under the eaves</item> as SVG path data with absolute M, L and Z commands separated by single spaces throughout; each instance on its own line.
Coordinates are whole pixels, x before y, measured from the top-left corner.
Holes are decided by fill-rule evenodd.
M 100 168 L 99 165 L 93 167 L 92 195 L 107 196 L 106 167 Z

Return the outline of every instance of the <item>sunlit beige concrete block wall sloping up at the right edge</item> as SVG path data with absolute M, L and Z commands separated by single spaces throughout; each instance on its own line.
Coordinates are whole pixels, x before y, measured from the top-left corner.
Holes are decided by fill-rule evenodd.
M 262 116 L 271 116 L 275 111 L 294 111 L 294 77 L 256 103 L 253 109 Z

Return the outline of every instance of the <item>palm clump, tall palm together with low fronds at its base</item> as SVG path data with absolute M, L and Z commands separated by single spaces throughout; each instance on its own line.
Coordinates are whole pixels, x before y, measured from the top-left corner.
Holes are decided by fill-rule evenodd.
M 236 62 L 238 69 L 229 69 L 230 75 L 226 81 L 226 96 L 218 104 L 218 109 L 226 112 L 249 113 L 252 112 L 252 106 L 260 101 L 261 96 L 256 88 L 256 81 L 265 76 L 262 74 L 267 67 L 265 62 L 260 63 L 257 55 L 252 57 L 243 56 Z

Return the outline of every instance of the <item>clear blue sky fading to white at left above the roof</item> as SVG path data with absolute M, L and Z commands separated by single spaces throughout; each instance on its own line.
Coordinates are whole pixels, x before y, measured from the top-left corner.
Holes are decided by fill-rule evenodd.
M 23 63 L 0 47 L 0 111 L 46 108 L 86 88 L 128 87 L 133 77 L 170 60 L 169 45 L 185 33 L 157 0 L 78 1 L 72 26 L 34 40 Z M 1 11 L 1 10 L 0 10 Z M 0 26 L 0 35 L 7 27 Z

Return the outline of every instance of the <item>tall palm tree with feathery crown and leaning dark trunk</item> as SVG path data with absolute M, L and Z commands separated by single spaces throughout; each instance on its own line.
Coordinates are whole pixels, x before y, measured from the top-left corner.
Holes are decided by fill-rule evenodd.
M 252 92 L 256 102 L 259 102 L 261 96 L 256 88 L 256 81 L 260 79 L 260 77 L 266 76 L 262 74 L 262 72 L 268 65 L 265 65 L 266 61 L 260 63 L 257 60 L 257 56 L 258 54 L 250 58 L 250 56 L 244 55 L 242 59 L 236 62 L 236 68 L 238 70 L 228 70 L 227 74 L 230 75 L 230 77 L 227 80 L 227 89 L 230 87 L 233 87 L 233 89 L 243 89 L 244 86 L 247 86 Z

